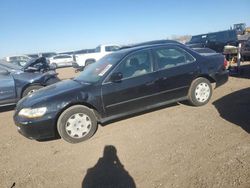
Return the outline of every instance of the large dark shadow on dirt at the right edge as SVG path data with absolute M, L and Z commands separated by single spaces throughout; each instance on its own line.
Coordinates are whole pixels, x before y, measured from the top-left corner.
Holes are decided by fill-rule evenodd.
M 230 93 L 213 105 L 223 119 L 250 133 L 250 87 Z

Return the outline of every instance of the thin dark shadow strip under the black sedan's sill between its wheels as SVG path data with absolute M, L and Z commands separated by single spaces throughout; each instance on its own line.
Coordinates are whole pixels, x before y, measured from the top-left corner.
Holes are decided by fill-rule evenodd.
M 148 109 L 148 110 L 143 110 L 142 112 L 137 112 L 137 113 L 133 113 L 133 114 L 130 114 L 130 115 L 123 116 L 123 117 L 115 118 L 115 119 L 112 119 L 112 120 L 109 120 L 109 121 L 105 121 L 104 123 L 101 123 L 100 125 L 104 127 L 104 126 L 109 125 L 111 123 L 115 123 L 115 122 L 122 121 L 122 120 L 125 120 L 125 119 L 133 118 L 133 117 L 140 116 L 140 115 L 143 115 L 143 114 L 147 114 L 147 113 L 150 113 L 150 112 L 153 112 L 153 111 L 162 110 L 164 108 L 170 108 L 170 107 L 178 106 L 180 104 L 184 104 L 184 102 L 183 103 L 182 102 L 172 103 L 172 104 L 167 104 L 167 105 L 163 105 L 163 106 Z

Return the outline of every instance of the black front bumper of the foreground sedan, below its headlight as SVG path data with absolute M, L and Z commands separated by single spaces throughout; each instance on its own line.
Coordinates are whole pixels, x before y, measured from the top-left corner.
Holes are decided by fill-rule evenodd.
M 51 117 L 25 119 L 15 115 L 14 121 L 18 132 L 29 139 L 41 140 L 57 135 L 55 120 Z

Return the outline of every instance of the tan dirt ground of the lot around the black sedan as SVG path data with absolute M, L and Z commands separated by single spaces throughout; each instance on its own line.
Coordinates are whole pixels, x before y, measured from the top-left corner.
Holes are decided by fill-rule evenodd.
M 80 144 L 37 142 L 0 112 L 0 187 L 250 187 L 250 68 L 204 107 L 174 104 L 100 126 Z M 71 77 L 73 70 L 59 70 Z

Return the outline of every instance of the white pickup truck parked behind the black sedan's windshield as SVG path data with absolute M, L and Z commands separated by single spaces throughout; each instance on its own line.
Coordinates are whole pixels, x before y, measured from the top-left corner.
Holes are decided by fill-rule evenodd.
M 76 55 L 77 64 L 75 64 L 77 67 L 75 68 L 78 68 L 78 66 L 85 67 L 91 63 L 98 61 L 105 55 L 110 54 L 119 49 L 120 49 L 120 46 L 118 45 L 100 45 L 96 47 L 93 53 L 77 54 Z

